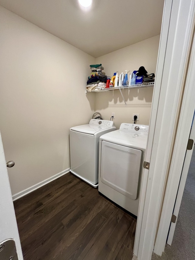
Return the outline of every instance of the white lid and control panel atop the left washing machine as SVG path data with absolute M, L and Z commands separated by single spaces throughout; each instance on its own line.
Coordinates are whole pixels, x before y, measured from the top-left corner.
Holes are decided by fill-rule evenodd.
M 70 128 L 70 131 L 76 131 L 90 135 L 102 135 L 104 134 L 104 130 L 108 130 L 109 128 L 116 129 L 114 122 L 109 120 L 91 119 L 89 124 L 73 126 Z

